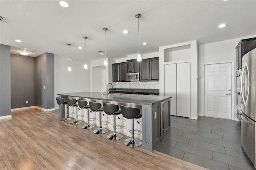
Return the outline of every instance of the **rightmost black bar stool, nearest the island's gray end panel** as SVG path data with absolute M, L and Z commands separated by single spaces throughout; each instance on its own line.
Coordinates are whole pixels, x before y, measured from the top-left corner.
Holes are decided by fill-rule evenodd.
M 142 141 L 134 138 L 134 119 L 140 119 L 142 117 L 142 115 L 140 115 L 140 109 L 121 105 L 121 112 L 126 119 L 132 119 L 132 138 L 124 140 L 124 144 L 132 148 L 140 146 Z

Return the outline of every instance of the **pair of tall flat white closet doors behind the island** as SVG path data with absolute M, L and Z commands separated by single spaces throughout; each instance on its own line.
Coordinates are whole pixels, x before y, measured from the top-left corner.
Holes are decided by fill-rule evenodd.
M 164 66 L 164 95 L 171 95 L 171 115 L 190 118 L 190 62 Z

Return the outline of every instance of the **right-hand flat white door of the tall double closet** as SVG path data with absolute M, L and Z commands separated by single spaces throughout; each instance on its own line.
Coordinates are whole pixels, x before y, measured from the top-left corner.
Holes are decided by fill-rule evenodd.
M 177 64 L 177 116 L 190 117 L 190 63 Z

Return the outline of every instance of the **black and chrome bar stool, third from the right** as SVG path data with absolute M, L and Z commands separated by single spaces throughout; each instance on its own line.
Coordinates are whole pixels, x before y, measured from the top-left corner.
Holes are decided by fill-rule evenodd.
M 96 134 L 104 134 L 104 133 L 108 132 L 108 129 L 102 128 L 102 125 L 101 125 L 101 113 L 104 111 L 104 109 L 101 107 L 101 104 L 97 103 L 97 102 L 89 101 L 89 105 L 90 105 L 91 111 L 98 112 L 100 114 L 100 116 L 99 116 L 100 128 L 97 128 L 93 132 Z

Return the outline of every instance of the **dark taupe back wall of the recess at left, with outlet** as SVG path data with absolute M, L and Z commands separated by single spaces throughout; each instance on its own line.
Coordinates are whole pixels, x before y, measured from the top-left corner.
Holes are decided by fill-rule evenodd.
M 36 105 L 36 58 L 11 54 L 11 108 Z M 28 104 L 26 104 L 28 101 Z

